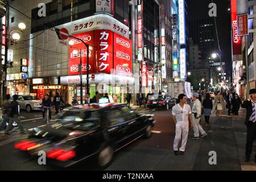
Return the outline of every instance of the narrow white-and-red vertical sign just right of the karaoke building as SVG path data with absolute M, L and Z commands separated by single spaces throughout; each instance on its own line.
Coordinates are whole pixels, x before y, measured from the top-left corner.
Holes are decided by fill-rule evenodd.
M 138 5 L 138 62 L 143 61 L 143 0 L 137 1 Z

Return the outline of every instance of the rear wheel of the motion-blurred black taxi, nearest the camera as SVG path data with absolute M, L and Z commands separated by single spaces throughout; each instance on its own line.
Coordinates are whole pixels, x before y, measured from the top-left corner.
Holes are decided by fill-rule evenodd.
M 98 166 L 100 168 L 106 168 L 112 162 L 113 159 L 113 148 L 111 146 L 106 146 L 102 148 L 100 153 L 98 154 Z

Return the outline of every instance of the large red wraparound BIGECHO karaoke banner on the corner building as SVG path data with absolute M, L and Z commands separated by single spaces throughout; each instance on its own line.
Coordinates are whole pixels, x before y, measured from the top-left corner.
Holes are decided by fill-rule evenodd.
M 110 30 L 94 30 L 77 35 L 89 44 L 89 73 L 112 73 L 129 75 L 133 73 L 132 42 Z M 82 55 L 82 74 L 86 74 L 87 49 L 76 39 L 69 48 L 69 75 L 80 75 L 80 49 Z M 114 41 L 114 42 L 113 42 Z M 77 54 L 74 54 L 77 50 Z M 76 53 L 76 52 L 75 52 Z M 114 63 L 114 64 L 113 64 Z

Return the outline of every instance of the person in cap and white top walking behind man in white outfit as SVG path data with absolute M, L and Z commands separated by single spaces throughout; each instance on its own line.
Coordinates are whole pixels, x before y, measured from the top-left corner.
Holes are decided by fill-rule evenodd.
M 193 93 L 192 96 L 193 106 L 192 106 L 192 119 L 193 119 L 193 131 L 194 136 L 192 139 L 199 139 L 199 134 L 201 133 L 201 138 L 206 137 L 207 133 L 201 127 L 199 121 L 201 118 L 201 102 L 199 101 L 199 93 Z

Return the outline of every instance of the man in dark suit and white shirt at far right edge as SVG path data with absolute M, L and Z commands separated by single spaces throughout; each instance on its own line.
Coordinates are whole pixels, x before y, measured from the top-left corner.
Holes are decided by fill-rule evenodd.
M 246 109 L 245 125 L 247 126 L 245 162 L 249 162 L 253 142 L 256 138 L 256 89 L 250 90 L 250 98 L 242 102 L 242 107 Z M 256 154 L 254 160 L 256 163 Z

